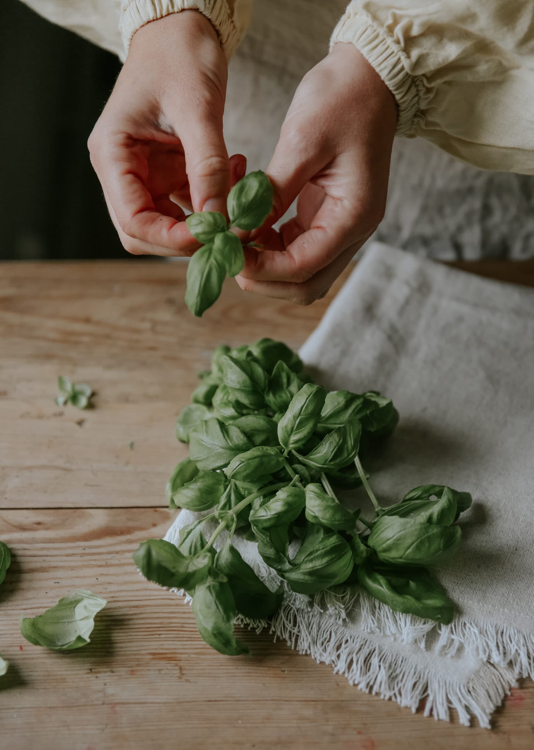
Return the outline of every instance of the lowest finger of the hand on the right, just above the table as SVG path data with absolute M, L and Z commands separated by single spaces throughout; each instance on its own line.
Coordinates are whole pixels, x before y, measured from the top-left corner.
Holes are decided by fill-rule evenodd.
M 236 281 L 245 292 L 255 292 L 264 297 L 272 297 L 272 299 L 284 299 L 296 305 L 311 305 L 326 296 L 332 284 L 347 268 L 358 250 L 359 245 L 347 248 L 329 266 L 302 284 L 284 281 L 251 281 L 241 275 L 236 276 Z

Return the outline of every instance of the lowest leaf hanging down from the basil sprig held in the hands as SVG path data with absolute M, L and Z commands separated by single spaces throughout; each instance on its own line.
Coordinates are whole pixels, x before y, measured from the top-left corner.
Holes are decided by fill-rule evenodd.
M 185 304 L 193 315 L 202 317 L 202 314 L 219 299 L 225 277 L 224 260 L 214 250 L 214 245 L 204 245 L 190 257 L 187 265 Z

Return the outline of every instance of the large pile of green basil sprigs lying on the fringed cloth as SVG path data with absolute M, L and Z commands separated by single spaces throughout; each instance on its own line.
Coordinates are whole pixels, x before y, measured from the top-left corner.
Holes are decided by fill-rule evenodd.
M 452 601 L 426 566 L 458 550 L 454 524 L 471 496 L 431 484 L 380 506 L 359 453 L 394 431 L 398 412 L 389 398 L 328 392 L 311 382 L 296 353 L 269 338 L 217 347 L 211 370 L 199 377 L 176 422 L 190 457 L 175 467 L 166 495 L 171 508 L 208 515 L 181 529 L 178 547 L 148 539 L 133 559 L 149 580 L 190 593 L 206 643 L 224 654 L 245 652 L 233 635 L 236 613 L 265 619 L 283 598 L 282 587 L 270 591 L 233 546 L 236 530 L 257 541 L 293 591 L 359 583 L 394 610 L 451 622 Z M 374 519 L 336 496 L 362 484 Z M 206 539 L 208 519 L 218 525 Z M 223 531 L 228 539 L 215 553 Z M 291 556 L 294 539 L 300 547 Z

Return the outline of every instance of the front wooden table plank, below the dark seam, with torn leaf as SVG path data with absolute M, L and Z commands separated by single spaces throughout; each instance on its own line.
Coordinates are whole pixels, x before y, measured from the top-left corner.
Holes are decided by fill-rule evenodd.
M 240 634 L 249 656 L 215 654 L 190 607 L 131 562 L 171 517 L 156 508 L 0 511 L 13 551 L 0 587 L 0 651 L 11 662 L 0 679 L 2 750 L 532 748 L 532 682 L 512 691 L 488 731 L 362 693 L 269 634 Z M 89 646 L 58 654 L 23 640 L 20 613 L 82 587 L 108 600 Z

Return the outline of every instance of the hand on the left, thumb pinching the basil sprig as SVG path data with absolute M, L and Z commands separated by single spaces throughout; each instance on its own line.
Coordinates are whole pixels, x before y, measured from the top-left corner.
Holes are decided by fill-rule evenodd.
M 217 34 L 198 10 L 142 26 L 89 152 L 110 216 L 134 255 L 191 255 L 199 243 L 189 211 L 226 214 L 230 187 L 245 174 L 223 139 L 227 67 Z M 179 204 L 179 205 L 178 205 Z

